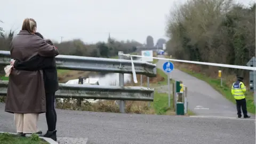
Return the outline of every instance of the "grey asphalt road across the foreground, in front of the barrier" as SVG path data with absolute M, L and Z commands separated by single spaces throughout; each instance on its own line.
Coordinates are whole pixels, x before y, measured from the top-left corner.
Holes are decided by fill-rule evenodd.
M 218 119 L 57 110 L 58 137 L 88 143 L 255 143 L 254 119 Z M 45 115 L 38 126 L 47 129 Z M 0 103 L 0 131 L 15 132 L 13 115 Z

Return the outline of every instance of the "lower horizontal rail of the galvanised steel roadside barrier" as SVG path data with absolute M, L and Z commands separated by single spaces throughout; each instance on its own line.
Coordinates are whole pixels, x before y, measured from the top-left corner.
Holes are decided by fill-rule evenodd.
M 0 81 L 0 95 L 6 95 L 8 81 Z M 154 89 L 140 86 L 59 84 L 57 98 L 153 101 Z

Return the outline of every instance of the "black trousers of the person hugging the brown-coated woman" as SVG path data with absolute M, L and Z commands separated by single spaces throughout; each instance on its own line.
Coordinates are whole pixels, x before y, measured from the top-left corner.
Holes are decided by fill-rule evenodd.
M 57 114 L 54 107 L 55 92 L 46 93 L 46 122 L 48 126 L 48 131 L 54 131 L 56 129 Z

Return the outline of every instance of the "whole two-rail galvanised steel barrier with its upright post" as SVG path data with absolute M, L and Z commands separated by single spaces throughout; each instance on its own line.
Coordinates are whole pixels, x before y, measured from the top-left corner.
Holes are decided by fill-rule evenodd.
M 132 74 L 135 70 L 136 74 L 156 77 L 157 68 L 155 64 L 138 60 L 124 60 L 122 55 L 119 55 L 119 59 L 74 55 L 58 55 L 55 58 L 57 69 L 119 73 L 119 86 L 60 84 L 60 90 L 56 92 L 57 98 L 120 100 L 121 113 L 125 113 L 125 100 L 154 100 L 154 89 L 124 86 L 124 74 Z M 0 65 L 10 65 L 10 60 L 10 51 L 0 51 Z M 132 62 L 134 69 L 132 69 Z M 8 82 L 0 82 L 1 95 L 6 95 L 7 85 Z

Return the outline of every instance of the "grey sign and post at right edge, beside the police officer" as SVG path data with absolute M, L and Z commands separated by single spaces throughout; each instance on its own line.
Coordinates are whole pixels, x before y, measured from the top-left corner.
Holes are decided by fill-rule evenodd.
M 246 66 L 248 67 L 256 67 L 256 59 L 255 57 L 252 57 L 250 61 L 246 63 Z M 254 105 L 256 105 L 255 97 L 256 97 L 256 71 L 250 71 L 250 91 L 253 91 L 254 93 Z

